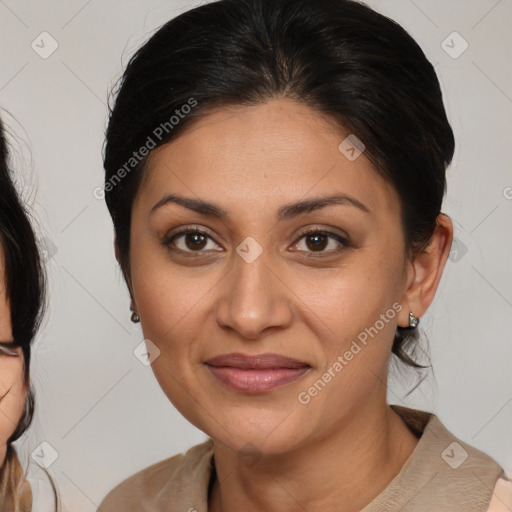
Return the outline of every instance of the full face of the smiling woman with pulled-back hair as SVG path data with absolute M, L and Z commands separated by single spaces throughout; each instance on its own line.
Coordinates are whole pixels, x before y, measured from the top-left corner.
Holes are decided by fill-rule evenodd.
M 160 351 L 153 371 L 191 423 L 235 450 L 289 452 L 385 401 L 410 267 L 398 195 L 364 153 L 338 148 L 347 135 L 289 100 L 216 111 L 152 153 L 134 201 L 131 286 Z M 331 196 L 342 199 L 300 207 Z M 232 353 L 303 368 L 205 364 Z

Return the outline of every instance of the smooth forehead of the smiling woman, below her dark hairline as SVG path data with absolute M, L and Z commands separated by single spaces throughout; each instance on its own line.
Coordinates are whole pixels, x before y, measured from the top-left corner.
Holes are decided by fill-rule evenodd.
M 398 208 L 396 191 L 365 157 L 349 160 L 334 119 L 291 100 L 211 111 L 150 155 L 137 200 L 164 192 L 217 197 L 249 209 L 346 193 L 372 210 Z

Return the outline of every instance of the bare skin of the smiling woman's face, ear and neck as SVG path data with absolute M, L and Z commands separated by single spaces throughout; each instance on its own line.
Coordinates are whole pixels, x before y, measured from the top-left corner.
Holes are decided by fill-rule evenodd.
M 214 440 L 213 512 L 360 510 L 418 442 L 386 402 L 388 362 L 397 325 L 408 325 L 410 311 L 421 317 L 434 298 L 452 225 L 440 216 L 427 250 L 406 259 L 398 195 L 364 153 L 350 161 L 340 152 L 347 135 L 291 100 L 215 111 L 153 151 L 135 198 L 133 308 L 161 351 L 152 367 L 163 391 Z M 227 216 L 172 202 L 155 208 L 169 194 L 215 203 Z M 284 205 L 334 194 L 363 208 L 345 202 L 276 219 Z M 171 240 L 187 227 L 206 233 L 200 248 L 194 235 Z M 318 249 L 306 229 L 349 243 L 326 235 Z M 247 237 L 262 250 L 251 263 L 236 251 Z M 301 403 L 394 304 L 399 311 L 378 334 Z M 249 395 L 205 365 L 231 352 L 272 352 L 311 368 Z M 255 464 L 239 457 L 247 443 Z

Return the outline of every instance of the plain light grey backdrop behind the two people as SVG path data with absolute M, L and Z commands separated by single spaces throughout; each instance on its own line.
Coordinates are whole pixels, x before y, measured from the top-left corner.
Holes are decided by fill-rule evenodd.
M 392 377 L 389 400 L 436 412 L 464 441 L 512 471 L 511 0 L 372 0 L 420 43 L 439 74 L 457 149 L 444 211 L 457 250 L 422 319 L 434 378 Z M 0 105 L 14 132 L 16 180 L 47 248 L 50 307 L 34 346 L 37 414 L 18 443 L 36 499 L 31 453 L 47 442 L 64 509 L 90 512 L 117 482 L 205 439 L 134 356 L 141 342 L 112 250 L 101 147 L 107 90 L 162 23 L 198 3 L 0 1 Z M 51 48 L 42 58 L 35 41 Z M 457 58 L 463 42 L 469 47 Z M 45 37 L 41 43 L 41 37 Z M 443 41 L 444 48 L 443 48 Z M 42 51 L 42 49 L 40 50 Z M 43 447 L 45 460 L 53 453 Z

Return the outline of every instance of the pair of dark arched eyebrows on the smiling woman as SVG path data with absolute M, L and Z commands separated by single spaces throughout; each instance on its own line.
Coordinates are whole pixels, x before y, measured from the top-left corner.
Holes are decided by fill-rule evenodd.
M 221 220 L 224 220 L 228 217 L 228 212 L 226 210 L 213 203 L 203 201 L 202 199 L 192 199 L 178 196 L 176 194 L 169 194 L 160 199 L 160 201 L 158 201 L 158 203 L 156 203 L 155 206 L 151 208 L 150 215 L 158 208 L 161 208 L 162 206 L 170 203 L 178 204 L 184 208 L 199 213 L 200 215 L 205 215 L 207 217 L 215 217 Z M 284 205 L 277 211 L 276 219 L 278 221 L 291 219 L 303 213 L 310 213 L 312 211 L 325 208 L 326 206 L 333 205 L 353 206 L 365 213 L 371 213 L 370 209 L 366 205 L 354 197 L 347 196 L 345 194 L 337 194 L 307 199 L 304 201 L 298 201 L 296 203 Z

